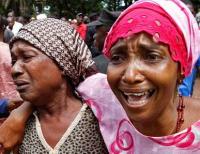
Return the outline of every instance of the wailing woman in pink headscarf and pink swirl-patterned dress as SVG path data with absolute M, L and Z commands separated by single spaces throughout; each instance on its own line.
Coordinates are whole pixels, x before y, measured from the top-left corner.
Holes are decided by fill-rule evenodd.
M 94 100 L 110 153 L 200 153 L 199 100 L 177 93 L 199 56 L 199 41 L 197 23 L 179 0 L 138 1 L 120 15 L 104 54 L 108 83 L 128 117 L 119 112 L 106 76 L 79 87 L 84 99 Z

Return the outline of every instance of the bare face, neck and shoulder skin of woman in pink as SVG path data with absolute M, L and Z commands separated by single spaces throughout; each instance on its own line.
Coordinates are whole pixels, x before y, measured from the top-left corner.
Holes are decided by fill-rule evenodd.
M 119 40 L 111 48 L 108 82 L 133 125 L 144 135 L 175 133 L 180 74 L 168 47 L 146 34 Z M 184 98 L 185 122 L 180 131 L 200 119 L 198 101 Z

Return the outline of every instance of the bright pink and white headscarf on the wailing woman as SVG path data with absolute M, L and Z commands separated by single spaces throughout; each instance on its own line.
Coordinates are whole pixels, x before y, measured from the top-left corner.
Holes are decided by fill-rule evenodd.
M 199 57 L 198 24 L 180 0 L 140 0 L 126 9 L 112 26 L 105 41 L 104 54 L 121 38 L 146 32 L 169 46 L 171 57 L 189 75 Z

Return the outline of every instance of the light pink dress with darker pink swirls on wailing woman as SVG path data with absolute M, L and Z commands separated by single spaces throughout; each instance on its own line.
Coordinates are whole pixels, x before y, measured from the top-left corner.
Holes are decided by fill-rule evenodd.
M 139 133 L 112 93 L 106 75 L 87 78 L 77 88 L 99 121 L 111 154 L 199 154 L 200 121 L 170 136 L 149 137 Z

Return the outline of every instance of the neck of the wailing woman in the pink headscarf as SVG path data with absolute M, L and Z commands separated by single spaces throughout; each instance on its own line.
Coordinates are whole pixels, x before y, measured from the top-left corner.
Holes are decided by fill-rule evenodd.
M 155 115 L 154 120 L 145 122 L 132 121 L 135 128 L 147 136 L 166 136 L 176 132 L 178 99 L 172 101 L 167 109 Z M 153 119 L 153 118 L 152 118 Z

